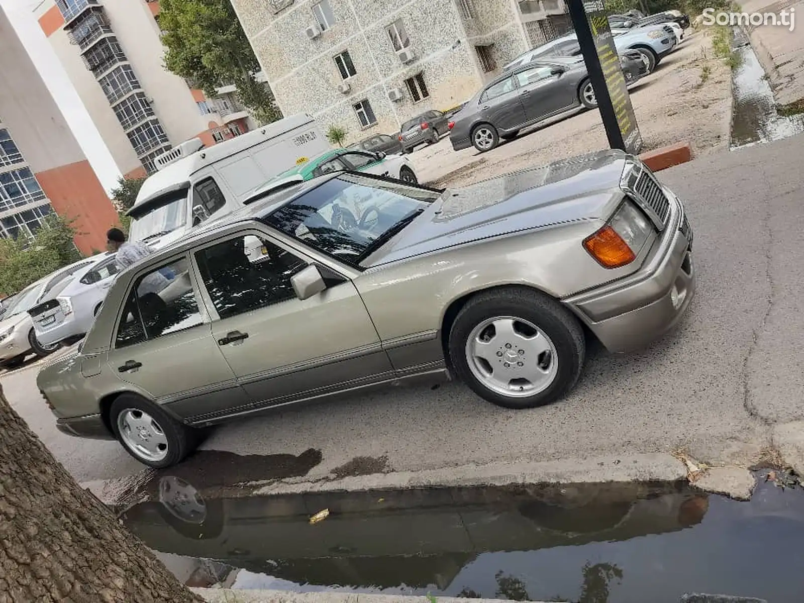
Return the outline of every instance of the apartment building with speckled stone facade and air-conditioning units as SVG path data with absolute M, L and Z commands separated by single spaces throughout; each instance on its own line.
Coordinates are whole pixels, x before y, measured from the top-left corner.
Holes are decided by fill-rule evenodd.
M 396 133 L 571 28 L 563 0 L 232 0 L 285 114 Z

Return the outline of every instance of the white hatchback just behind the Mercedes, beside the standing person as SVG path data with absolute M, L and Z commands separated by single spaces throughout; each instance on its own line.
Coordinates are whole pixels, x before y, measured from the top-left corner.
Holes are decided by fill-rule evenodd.
M 28 310 L 39 343 L 75 343 L 88 332 L 119 271 L 115 254 L 99 253 L 77 271 L 58 296 Z

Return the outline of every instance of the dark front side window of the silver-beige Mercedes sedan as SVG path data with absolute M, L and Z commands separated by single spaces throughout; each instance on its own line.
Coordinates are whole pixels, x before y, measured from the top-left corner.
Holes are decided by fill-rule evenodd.
M 290 278 L 306 260 L 264 236 L 238 235 L 195 252 L 199 274 L 220 318 L 295 299 Z

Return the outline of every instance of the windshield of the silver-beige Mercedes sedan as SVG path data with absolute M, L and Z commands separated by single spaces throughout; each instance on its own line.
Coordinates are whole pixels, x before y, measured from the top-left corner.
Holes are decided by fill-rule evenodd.
M 265 221 L 356 265 L 440 196 L 437 191 L 343 174 L 273 211 Z

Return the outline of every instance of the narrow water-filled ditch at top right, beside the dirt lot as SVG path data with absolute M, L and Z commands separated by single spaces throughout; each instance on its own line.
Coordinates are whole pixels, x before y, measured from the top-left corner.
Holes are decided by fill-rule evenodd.
M 731 148 L 773 142 L 804 132 L 804 115 L 779 115 L 765 70 L 748 38 L 735 31 L 736 52 L 740 66 L 732 72 L 734 109 L 732 113 Z

